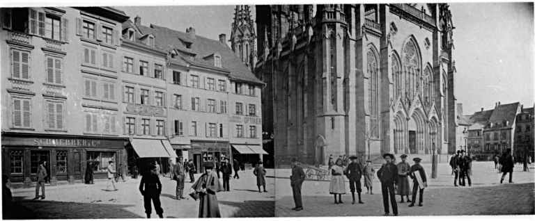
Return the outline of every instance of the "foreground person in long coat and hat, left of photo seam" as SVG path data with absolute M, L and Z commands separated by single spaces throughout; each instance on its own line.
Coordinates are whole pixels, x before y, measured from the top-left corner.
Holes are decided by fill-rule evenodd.
M 222 190 L 222 186 L 213 171 L 214 163 L 205 162 L 203 167 L 206 172 L 192 186 L 199 193 L 199 218 L 221 218 L 216 193 Z

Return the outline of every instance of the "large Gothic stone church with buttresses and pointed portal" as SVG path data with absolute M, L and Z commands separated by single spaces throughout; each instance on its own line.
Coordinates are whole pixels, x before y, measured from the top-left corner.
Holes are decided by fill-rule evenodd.
M 455 152 L 447 4 L 327 4 L 312 13 L 256 6 L 255 74 L 267 83 L 264 123 L 277 163 Z

